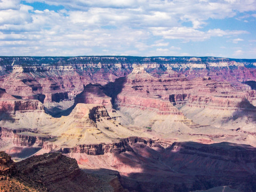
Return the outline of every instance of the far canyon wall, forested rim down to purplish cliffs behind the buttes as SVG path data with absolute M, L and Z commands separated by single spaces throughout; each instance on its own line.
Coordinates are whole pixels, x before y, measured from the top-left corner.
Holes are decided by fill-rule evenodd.
M 26 63 L 26 66 L 24 65 Z M 23 66 L 22 66 L 23 65 Z M 243 81 L 255 81 L 255 60 L 195 57 L 5 57 L 0 66 L 9 73 L 34 73 L 53 76 L 71 76 L 83 73 L 93 83 L 106 84 L 115 78 L 128 75 L 140 66 L 153 74 L 168 74 L 170 70 L 191 78 L 209 76 L 218 81 L 228 81 L 240 89 L 246 89 Z M 51 72 L 50 72 L 51 71 Z M 242 72 L 243 71 L 243 72 Z M 29 72 L 29 73 L 28 73 Z M 172 73 L 173 75 L 173 73 Z M 70 77 L 71 77 L 70 76 Z M 83 78 L 83 77 L 82 77 Z

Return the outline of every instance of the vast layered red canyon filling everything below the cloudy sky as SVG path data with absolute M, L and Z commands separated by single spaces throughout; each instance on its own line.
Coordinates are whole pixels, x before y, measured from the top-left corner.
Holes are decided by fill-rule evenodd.
M 15 169 L 58 157 L 94 183 L 114 174 L 105 191 L 255 191 L 254 59 L 0 57 L 0 67 L 0 150 Z

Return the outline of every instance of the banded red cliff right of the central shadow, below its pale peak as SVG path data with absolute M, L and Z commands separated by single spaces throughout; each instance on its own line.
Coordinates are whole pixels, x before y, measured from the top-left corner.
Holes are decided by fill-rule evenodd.
M 143 77 L 143 75 L 142 75 Z M 253 95 L 253 93 L 250 93 Z M 159 110 L 159 114 L 182 115 L 175 107 L 239 110 L 239 103 L 251 96 L 234 89 L 227 82 L 216 82 L 209 77 L 133 79 L 128 76 L 121 93 L 116 97 L 120 107 Z M 175 107 L 173 107 L 175 106 Z

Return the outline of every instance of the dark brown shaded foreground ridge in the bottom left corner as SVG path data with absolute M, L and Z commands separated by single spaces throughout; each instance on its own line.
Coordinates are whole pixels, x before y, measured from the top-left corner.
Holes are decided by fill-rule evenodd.
M 86 174 L 73 158 L 60 153 L 34 156 L 19 163 L 0 153 L 1 191 L 126 191 L 119 175 Z M 5 179 L 7 178 L 7 179 Z

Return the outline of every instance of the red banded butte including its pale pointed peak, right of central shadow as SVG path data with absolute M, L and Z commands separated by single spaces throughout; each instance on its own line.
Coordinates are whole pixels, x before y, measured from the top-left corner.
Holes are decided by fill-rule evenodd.
M 120 99 L 124 97 L 133 97 L 134 101 L 137 97 L 170 101 L 176 107 L 188 103 L 196 107 L 209 105 L 213 108 L 225 108 L 237 107 L 239 99 L 248 98 L 249 95 L 235 90 L 227 82 L 216 82 L 211 78 L 195 78 L 191 81 L 184 77 L 156 78 L 146 73 L 143 68 L 134 68 L 117 95 L 117 101 L 121 105 L 126 102 Z M 132 105 L 130 100 L 126 103 L 129 102 Z M 135 105 L 140 106 L 138 103 Z

